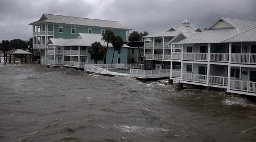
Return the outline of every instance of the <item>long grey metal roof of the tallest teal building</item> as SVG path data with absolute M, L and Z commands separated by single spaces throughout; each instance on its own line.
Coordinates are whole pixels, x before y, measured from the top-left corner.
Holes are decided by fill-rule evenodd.
M 42 23 L 72 24 L 72 25 L 89 26 L 89 27 L 106 27 L 106 28 L 118 28 L 122 30 L 132 30 L 131 28 L 125 27 L 117 21 L 79 18 L 79 17 L 73 17 L 73 16 L 63 16 L 63 15 L 53 15 L 53 14 L 43 14 L 38 21 L 30 23 L 30 25 L 42 24 Z

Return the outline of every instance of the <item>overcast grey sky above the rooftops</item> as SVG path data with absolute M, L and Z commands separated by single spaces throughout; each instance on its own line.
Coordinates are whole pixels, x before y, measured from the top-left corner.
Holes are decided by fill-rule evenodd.
M 0 42 L 32 37 L 29 23 L 44 14 L 117 20 L 155 34 L 187 18 L 203 30 L 218 18 L 256 22 L 255 0 L 0 0 Z

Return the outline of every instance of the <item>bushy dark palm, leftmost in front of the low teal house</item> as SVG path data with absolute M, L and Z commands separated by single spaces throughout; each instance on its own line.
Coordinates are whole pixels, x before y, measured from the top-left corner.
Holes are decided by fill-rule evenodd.
M 104 59 L 105 50 L 100 42 L 95 41 L 92 43 L 92 47 L 88 48 L 90 53 L 90 60 L 94 61 L 94 64 L 98 64 L 98 61 Z

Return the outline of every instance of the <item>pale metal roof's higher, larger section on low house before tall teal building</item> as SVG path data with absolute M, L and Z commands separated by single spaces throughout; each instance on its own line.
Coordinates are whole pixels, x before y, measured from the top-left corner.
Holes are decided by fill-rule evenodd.
M 106 47 L 106 44 L 103 40 L 101 40 L 101 34 L 86 34 L 86 33 L 79 33 L 76 36 L 76 39 L 72 39 L 67 43 L 64 43 L 63 46 L 92 46 L 92 43 L 95 41 L 100 42 L 102 46 Z M 112 44 L 109 44 L 109 47 L 113 47 Z M 129 47 L 128 45 L 123 44 L 122 47 Z

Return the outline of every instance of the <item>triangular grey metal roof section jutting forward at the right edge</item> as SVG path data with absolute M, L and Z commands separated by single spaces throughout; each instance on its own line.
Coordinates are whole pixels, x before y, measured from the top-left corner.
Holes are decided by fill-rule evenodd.
M 256 27 L 224 40 L 225 43 L 256 42 Z

